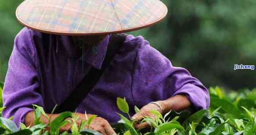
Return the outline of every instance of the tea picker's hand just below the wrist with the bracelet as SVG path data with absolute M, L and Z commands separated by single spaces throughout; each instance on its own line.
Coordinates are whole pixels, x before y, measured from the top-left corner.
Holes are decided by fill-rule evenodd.
M 159 103 L 159 102 L 158 102 Z M 161 105 L 161 103 L 159 103 Z M 161 105 L 162 106 L 162 105 Z M 156 115 L 155 114 L 152 114 L 150 112 L 150 110 L 157 110 L 159 111 L 160 113 L 162 113 L 161 111 L 161 108 L 154 104 L 154 103 L 148 103 L 147 105 L 145 105 L 144 107 L 142 107 L 140 109 L 140 111 L 137 113 L 137 114 L 134 114 L 133 117 L 131 117 L 132 120 L 136 120 L 134 122 L 134 127 L 135 128 L 147 128 L 149 127 L 149 124 L 148 122 L 143 122 L 143 123 L 139 123 L 139 121 L 141 121 L 143 119 L 143 116 L 148 116 L 150 117 L 152 120 L 155 120 L 155 117 Z

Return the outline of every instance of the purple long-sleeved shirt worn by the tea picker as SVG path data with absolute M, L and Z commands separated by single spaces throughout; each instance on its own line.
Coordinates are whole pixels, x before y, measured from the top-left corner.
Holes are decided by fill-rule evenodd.
M 92 66 L 101 68 L 109 37 L 98 44 L 98 54 L 85 50 L 85 74 Z M 47 113 L 61 104 L 85 76 L 81 51 L 70 36 L 23 28 L 15 37 L 5 77 L 3 117 L 14 116 L 13 121 L 19 126 L 24 123 L 25 114 L 33 110 L 32 104 L 42 106 Z M 186 94 L 195 110 L 209 107 L 209 92 L 198 79 L 184 68 L 173 67 L 142 36 L 128 35 L 77 112 L 87 111 L 116 122 L 119 120 L 116 112 L 121 113 L 116 106 L 117 97 L 126 98 L 133 115 L 134 105 L 143 107 L 177 94 Z

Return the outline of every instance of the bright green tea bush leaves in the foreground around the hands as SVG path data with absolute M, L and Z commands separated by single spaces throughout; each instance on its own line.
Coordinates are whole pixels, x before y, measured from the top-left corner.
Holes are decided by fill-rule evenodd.
M 0 94 L 2 89 L 0 88 Z M 255 135 L 256 134 L 256 89 L 245 89 L 241 92 L 228 92 L 219 87 L 210 88 L 209 110 L 199 110 L 194 114 L 183 110 L 181 112 L 170 111 L 162 115 L 158 111 L 151 110 L 155 114 L 155 120 L 144 116 L 140 122 L 148 122 L 150 128 L 135 129 L 133 122 L 129 119 L 129 106 L 125 98 L 117 98 L 117 107 L 127 116 L 118 114 L 120 121 L 111 124 L 112 128 L 119 135 Z M 33 105 L 35 109 L 35 125 L 26 127 L 20 123 L 18 128 L 12 117 L 0 117 L 0 135 L 102 135 L 97 131 L 87 129 L 96 115 L 92 115 L 77 125 L 76 119 L 71 112 L 59 114 L 50 124 L 43 124 L 40 121 L 42 115 L 46 115 L 42 107 Z M 0 109 L 2 110 L 4 107 Z M 134 107 L 135 112 L 139 108 Z M 52 111 L 52 113 L 54 110 Z M 71 121 L 66 121 L 67 117 Z M 60 127 L 70 123 L 71 131 L 60 133 Z M 50 130 L 45 128 L 49 126 Z

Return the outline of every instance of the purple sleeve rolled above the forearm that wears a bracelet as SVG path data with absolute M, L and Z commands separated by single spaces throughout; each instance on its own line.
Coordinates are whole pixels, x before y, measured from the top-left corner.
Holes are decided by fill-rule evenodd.
M 135 103 L 168 99 L 183 94 L 194 111 L 209 108 L 208 89 L 185 68 L 174 67 L 142 36 L 130 37 L 138 43 L 133 71 L 133 96 Z

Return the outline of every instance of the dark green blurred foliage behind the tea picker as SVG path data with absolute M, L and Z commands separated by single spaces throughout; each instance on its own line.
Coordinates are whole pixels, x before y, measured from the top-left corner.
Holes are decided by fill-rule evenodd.
M 15 9 L 23 0 L 0 1 L 0 81 L 4 81 L 14 37 L 23 28 Z M 173 66 L 184 67 L 206 87 L 256 87 L 256 0 L 162 0 L 169 9 L 157 25 L 129 32 L 144 36 Z

